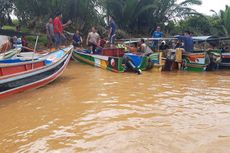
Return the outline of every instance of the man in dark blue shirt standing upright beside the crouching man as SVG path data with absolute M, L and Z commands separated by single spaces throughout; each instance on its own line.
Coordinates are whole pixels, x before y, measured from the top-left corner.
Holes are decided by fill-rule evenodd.
M 117 25 L 113 19 L 112 16 L 109 16 L 109 42 L 111 44 L 111 47 L 113 47 L 115 43 L 115 37 L 116 37 L 116 30 L 117 30 Z

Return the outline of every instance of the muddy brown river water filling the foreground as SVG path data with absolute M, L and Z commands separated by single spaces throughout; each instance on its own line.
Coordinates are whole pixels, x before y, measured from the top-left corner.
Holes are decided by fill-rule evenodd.
M 71 62 L 0 101 L 1 153 L 228 153 L 230 71 L 116 74 Z

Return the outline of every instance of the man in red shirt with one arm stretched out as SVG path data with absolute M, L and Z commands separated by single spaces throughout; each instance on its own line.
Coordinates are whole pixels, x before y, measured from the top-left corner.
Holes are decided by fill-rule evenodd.
M 63 28 L 71 24 L 71 21 L 68 21 L 65 24 L 62 24 L 62 13 L 57 13 L 56 18 L 54 19 L 54 37 L 55 37 L 55 46 L 59 48 L 66 41 L 66 37 L 63 33 Z

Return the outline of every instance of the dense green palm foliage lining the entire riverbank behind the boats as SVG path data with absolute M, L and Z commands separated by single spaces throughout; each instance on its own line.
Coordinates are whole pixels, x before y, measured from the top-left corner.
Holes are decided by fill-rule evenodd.
M 83 33 L 91 26 L 106 33 L 108 15 L 112 15 L 123 33 L 150 35 L 159 25 L 171 35 L 184 30 L 197 35 L 230 35 L 230 7 L 213 16 L 203 16 L 191 9 L 192 5 L 200 5 L 201 0 L 180 3 L 177 0 L 0 0 L 0 3 L 1 23 L 8 24 L 14 10 L 20 24 L 36 32 L 44 32 L 48 18 L 61 11 L 63 22 L 73 21 L 68 30 L 80 29 Z

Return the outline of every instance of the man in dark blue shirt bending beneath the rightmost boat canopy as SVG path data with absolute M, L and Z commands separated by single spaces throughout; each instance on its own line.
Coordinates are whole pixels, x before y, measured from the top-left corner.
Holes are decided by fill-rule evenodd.
M 191 37 L 191 33 L 189 31 L 184 32 L 184 36 L 176 36 L 177 39 L 183 41 L 184 43 L 184 50 L 186 52 L 193 52 L 194 50 L 194 42 Z

